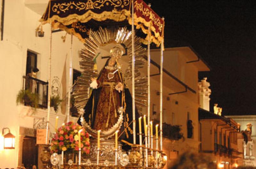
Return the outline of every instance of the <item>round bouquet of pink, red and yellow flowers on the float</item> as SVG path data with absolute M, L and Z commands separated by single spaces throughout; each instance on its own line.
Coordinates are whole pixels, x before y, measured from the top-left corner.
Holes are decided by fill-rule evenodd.
M 82 129 L 82 130 L 81 130 Z M 57 129 L 51 143 L 51 153 L 79 151 L 78 131 L 81 130 L 81 153 L 90 153 L 89 134 L 79 124 L 69 121 Z

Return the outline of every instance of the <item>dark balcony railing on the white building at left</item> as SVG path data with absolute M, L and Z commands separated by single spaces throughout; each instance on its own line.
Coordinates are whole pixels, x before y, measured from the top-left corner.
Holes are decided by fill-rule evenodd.
M 23 76 L 23 90 L 29 90 L 31 93 L 37 93 L 39 96 L 39 107 L 47 108 L 48 82 L 44 82 L 30 76 Z

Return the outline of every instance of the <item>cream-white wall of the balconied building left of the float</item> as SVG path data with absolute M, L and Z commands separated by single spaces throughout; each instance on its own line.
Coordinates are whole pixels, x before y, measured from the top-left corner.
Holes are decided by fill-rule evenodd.
M 46 8 L 46 7 L 45 7 Z M 36 37 L 35 29 L 40 24 L 40 15 L 28 9 L 24 1 L 5 1 L 4 10 L 4 40 L 0 41 L 0 94 L 1 114 L 0 129 L 8 127 L 15 135 L 16 147 L 14 150 L 3 150 L 3 142 L 0 142 L 0 168 L 17 168 L 19 151 L 19 127 L 33 128 L 34 118 L 45 118 L 46 110 L 37 109 L 36 114 L 31 115 L 29 107 L 17 106 L 16 95 L 22 89 L 22 76 L 26 72 L 27 50 L 38 53 L 37 67 L 39 69 L 37 78 L 43 81 L 48 80 L 48 58 L 49 58 L 49 24 L 43 26 L 44 37 Z M 52 79 L 62 77 L 65 61 L 69 64 L 70 35 L 67 35 L 65 43 L 61 36 L 64 32 L 52 34 Z M 77 50 L 83 47 L 76 37 L 73 38 L 73 67 L 79 70 Z M 67 57 L 67 59 L 66 59 Z M 68 80 L 68 72 L 66 73 Z M 28 113 L 28 114 L 27 114 Z M 60 116 L 59 126 L 65 117 Z M 50 129 L 53 132 L 56 113 L 52 111 L 50 117 Z M 71 119 L 76 121 L 76 119 Z

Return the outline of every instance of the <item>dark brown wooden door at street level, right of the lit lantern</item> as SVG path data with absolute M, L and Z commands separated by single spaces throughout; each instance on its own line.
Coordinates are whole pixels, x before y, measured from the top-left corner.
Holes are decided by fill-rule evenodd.
M 33 165 L 38 168 L 38 145 L 36 137 L 24 137 L 22 144 L 22 164 L 26 169 L 32 169 Z

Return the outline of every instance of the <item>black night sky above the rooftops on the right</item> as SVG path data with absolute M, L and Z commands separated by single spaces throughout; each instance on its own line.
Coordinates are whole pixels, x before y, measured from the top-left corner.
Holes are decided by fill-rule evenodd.
M 165 47 L 190 44 L 210 65 L 213 104 L 223 115 L 256 114 L 256 1 L 145 0 L 165 18 Z M 232 2 L 232 3 L 231 3 Z

